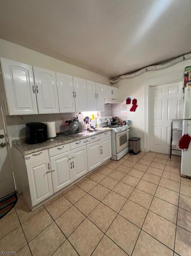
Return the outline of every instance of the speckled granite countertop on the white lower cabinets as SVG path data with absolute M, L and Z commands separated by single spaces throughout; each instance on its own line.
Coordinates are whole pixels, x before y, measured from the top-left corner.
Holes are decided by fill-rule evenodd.
M 27 155 L 33 152 L 37 152 L 37 151 L 41 151 L 41 150 L 45 150 L 45 149 L 49 149 L 51 147 L 57 147 L 60 145 L 64 145 L 64 144 L 68 144 L 71 143 L 73 141 L 78 141 L 84 138 L 88 138 L 106 131 L 111 131 L 111 128 L 101 128 L 100 131 L 98 132 L 91 132 L 88 135 L 79 135 L 76 137 L 71 137 L 71 136 L 64 136 L 64 135 L 58 135 L 56 137 L 55 141 L 46 141 L 46 142 L 42 142 L 42 143 L 38 143 L 38 144 L 28 144 L 25 142 L 25 138 L 22 139 L 16 139 L 13 140 L 13 146 L 19 150 L 19 152 L 23 155 Z

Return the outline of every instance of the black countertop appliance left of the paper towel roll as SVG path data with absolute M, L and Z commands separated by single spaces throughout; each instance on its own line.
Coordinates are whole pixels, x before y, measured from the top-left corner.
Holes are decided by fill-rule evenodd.
M 47 125 L 44 123 L 26 124 L 26 142 L 37 144 L 47 141 Z

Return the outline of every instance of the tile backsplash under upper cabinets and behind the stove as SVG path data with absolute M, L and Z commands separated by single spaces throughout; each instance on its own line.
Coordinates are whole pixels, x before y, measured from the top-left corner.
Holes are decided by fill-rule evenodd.
M 30 122 L 45 123 L 54 121 L 56 131 L 59 131 L 62 121 L 72 119 L 75 115 L 77 115 L 77 113 L 6 116 L 7 134 L 10 139 L 25 137 L 25 124 Z M 100 112 L 100 116 L 118 116 L 120 120 L 126 120 L 127 105 L 125 102 L 113 105 L 105 104 L 104 111 Z

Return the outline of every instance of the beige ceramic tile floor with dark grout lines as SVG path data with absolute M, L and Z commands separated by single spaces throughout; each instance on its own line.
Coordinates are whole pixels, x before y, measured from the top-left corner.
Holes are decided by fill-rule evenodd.
M 43 206 L 22 195 L 0 220 L 0 251 L 16 255 L 191 255 L 191 180 L 178 156 L 126 154 Z

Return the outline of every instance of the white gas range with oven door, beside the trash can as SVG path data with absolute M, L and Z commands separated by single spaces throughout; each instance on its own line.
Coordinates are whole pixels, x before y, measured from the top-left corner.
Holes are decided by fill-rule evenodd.
M 111 149 L 113 160 L 119 160 L 129 152 L 129 129 L 128 125 L 108 125 L 108 118 L 111 116 L 98 118 L 98 127 L 111 128 Z

